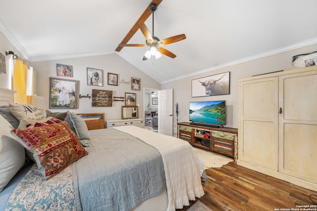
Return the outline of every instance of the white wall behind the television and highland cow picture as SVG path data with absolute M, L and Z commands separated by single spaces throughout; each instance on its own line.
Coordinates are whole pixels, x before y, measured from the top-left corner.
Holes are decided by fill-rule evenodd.
M 225 127 L 238 128 L 238 79 L 279 70 L 291 70 L 293 68 L 291 64 L 293 56 L 316 50 L 317 44 L 162 84 L 161 88 L 173 88 L 173 103 L 174 105 L 178 103 L 179 109 L 178 122 L 189 122 L 189 102 L 191 101 L 226 100 L 227 124 Z M 230 72 L 230 94 L 191 97 L 191 83 L 193 79 L 199 79 L 224 72 Z M 173 122 L 176 123 L 176 115 L 173 116 Z

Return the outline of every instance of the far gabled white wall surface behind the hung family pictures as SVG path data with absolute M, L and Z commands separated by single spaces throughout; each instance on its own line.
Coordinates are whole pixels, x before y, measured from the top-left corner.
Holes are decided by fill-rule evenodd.
M 73 78 L 57 77 L 56 64 L 66 64 L 73 66 Z M 125 92 L 136 93 L 137 104 L 139 107 L 139 117 L 144 117 L 143 105 L 143 87 L 151 87 L 155 89 L 160 88 L 160 84 L 145 75 L 142 71 L 132 66 L 130 63 L 122 59 L 117 54 L 108 54 L 101 56 L 89 56 L 82 58 L 61 59 L 43 62 L 33 62 L 30 66 L 37 71 L 37 94 L 40 96 L 49 96 L 50 92 L 50 77 L 68 80 L 80 81 L 78 94 L 92 95 L 92 89 L 112 90 L 112 96 L 124 97 Z M 104 70 L 104 86 L 87 85 L 87 67 Z M 107 85 L 107 73 L 118 74 L 118 86 Z M 141 79 L 140 91 L 131 90 L 131 77 Z M 130 84 L 120 84 L 119 81 L 123 79 L 130 81 Z M 112 107 L 92 107 L 92 99 L 81 98 L 78 109 L 70 111 L 74 113 L 105 113 L 106 120 L 121 119 L 121 106 L 124 102 L 113 102 Z M 48 99 L 49 101 L 49 99 Z M 49 102 L 47 103 L 49 105 Z M 65 109 L 49 109 L 52 112 L 66 111 Z

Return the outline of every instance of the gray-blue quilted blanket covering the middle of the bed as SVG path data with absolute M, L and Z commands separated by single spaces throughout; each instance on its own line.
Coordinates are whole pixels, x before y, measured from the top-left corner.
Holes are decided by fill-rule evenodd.
M 129 211 L 165 190 L 157 149 L 113 128 L 90 130 L 90 136 L 89 155 L 73 166 L 83 211 Z

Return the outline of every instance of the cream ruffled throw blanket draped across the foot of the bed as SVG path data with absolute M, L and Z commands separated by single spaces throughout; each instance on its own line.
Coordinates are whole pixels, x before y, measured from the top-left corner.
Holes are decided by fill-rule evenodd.
M 131 134 L 159 150 L 165 170 L 167 211 L 188 206 L 189 200 L 204 195 L 198 155 L 187 141 L 135 126 L 113 128 Z

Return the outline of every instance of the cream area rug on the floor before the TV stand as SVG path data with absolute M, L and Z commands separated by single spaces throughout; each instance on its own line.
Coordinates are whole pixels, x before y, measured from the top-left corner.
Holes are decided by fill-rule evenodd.
M 195 147 L 195 150 L 198 154 L 198 157 L 205 162 L 205 169 L 219 168 L 233 161 L 232 158 L 217 153 L 213 153 L 207 150 L 203 150 L 197 147 Z

